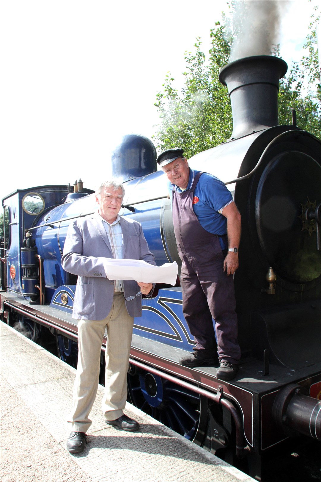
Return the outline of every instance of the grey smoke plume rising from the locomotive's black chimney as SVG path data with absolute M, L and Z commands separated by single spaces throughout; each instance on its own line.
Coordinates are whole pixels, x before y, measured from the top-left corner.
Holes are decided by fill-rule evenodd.
M 270 55 L 280 40 L 281 19 L 291 0 L 240 0 L 233 15 L 230 61 Z

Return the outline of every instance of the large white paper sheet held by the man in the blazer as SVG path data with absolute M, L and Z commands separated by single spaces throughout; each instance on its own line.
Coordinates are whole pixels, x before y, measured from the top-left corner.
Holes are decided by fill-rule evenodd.
M 134 280 L 139 283 L 166 283 L 174 286 L 178 273 L 178 265 L 165 263 L 153 266 L 139 259 L 106 258 L 103 267 L 110 280 Z

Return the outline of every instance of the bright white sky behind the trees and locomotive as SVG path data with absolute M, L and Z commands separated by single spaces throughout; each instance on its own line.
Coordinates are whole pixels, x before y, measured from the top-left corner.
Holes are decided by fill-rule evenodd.
M 291 0 L 283 19 L 289 67 L 315 3 Z M 167 72 L 182 85 L 185 50 L 200 36 L 208 52 L 222 10 L 226 0 L 2 0 L 0 199 L 79 177 L 95 189 L 108 178 L 118 139 L 151 138 Z

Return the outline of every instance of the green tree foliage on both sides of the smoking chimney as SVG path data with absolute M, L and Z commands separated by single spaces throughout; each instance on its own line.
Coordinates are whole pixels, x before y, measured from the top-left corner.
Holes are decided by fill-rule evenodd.
M 236 3 L 232 2 L 232 8 Z M 317 21 L 318 16 L 314 15 L 305 44 L 307 55 L 295 63 L 287 77 L 280 81 L 279 121 L 280 124 L 291 124 L 292 110 L 295 109 L 297 125 L 320 137 Z M 229 63 L 235 28 L 238 27 L 233 27 L 231 19 L 222 13 L 221 22 L 216 22 L 210 31 L 211 47 L 207 62 L 201 39 L 196 39 L 193 51 L 185 52 L 185 82 L 180 93 L 174 87 L 174 78 L 170 73 L 167 74 L 163 90 L 156 95 L 155 103 L 161 124 L 153 139 L 160 150 L 182 147 L 186 157 L 190 158 L 231 136 L 230 99 L 226 86 L 218 80 L 218 74 Z M 274 47 L 272 54 L 279 55 L 279 45 Z

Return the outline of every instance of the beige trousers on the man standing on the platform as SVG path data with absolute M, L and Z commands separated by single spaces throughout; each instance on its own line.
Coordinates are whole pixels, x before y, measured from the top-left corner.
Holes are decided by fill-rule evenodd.
M 134 318 L 128 315 L 122 293 L 114 295 L 112 308 L 104 320 L 78 321 L 78 362 L 69 420 L 72 431 L 87 432 L 91 425 L 89 414 L 98 389 L 105 329 L 106 371 L 102 410 L 106 420 L 115 420 L 123 415 L 127 399 L 127 371 L 133 324 Z

